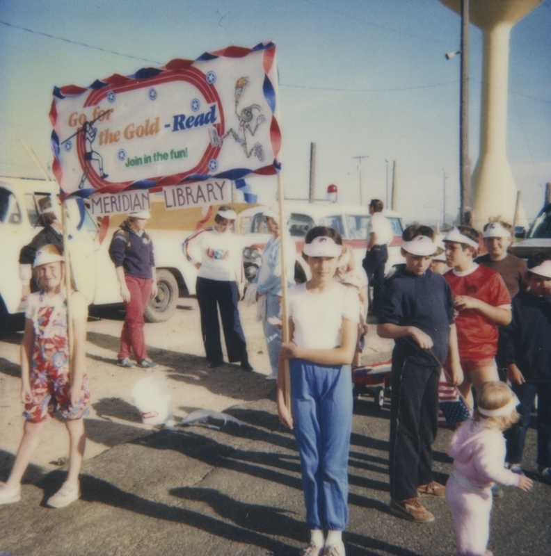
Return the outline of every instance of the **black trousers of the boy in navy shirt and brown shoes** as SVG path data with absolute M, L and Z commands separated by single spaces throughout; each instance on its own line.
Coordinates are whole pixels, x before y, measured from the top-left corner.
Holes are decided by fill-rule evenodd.
M 390 497 L 417 496 L 433 480 L 432 443 L 438 430 L 438 367 L 392 361 L 390 398 Z

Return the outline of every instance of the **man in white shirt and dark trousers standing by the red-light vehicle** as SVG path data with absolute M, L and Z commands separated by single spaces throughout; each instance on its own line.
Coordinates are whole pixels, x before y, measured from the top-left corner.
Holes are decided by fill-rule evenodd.
M 369 203 L 369 220 L 367 228 L 367 253 L 362 266 L 367 272 L 369 284 L 373 286 L 373 300 L 369 310 L 376 311 L 385 291 L 385 263 L 388 261 L 387 245 L 394 236 L 390 222 L 383 216 L 383 202 L 372 199 Z

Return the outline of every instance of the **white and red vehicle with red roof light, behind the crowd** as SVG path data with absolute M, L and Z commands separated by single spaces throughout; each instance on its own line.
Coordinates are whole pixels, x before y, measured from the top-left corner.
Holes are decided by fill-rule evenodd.
M 243 250 L 245 274 L 248 281 L 252 281 L 257 274 L 262 259 L 264 245 L 270 238 L 264 211 L 267 206 L 246 208 L 237 215 L 236 232 L 242 234 L 246 247 Z M 289 214 L 287 227 L 295 243 L 295 280 L 306 281 L 310 277 L 310 270 L 301 256 L 304 238 L 314 226 L 327 226 L 336 229 L 342 235 L 344 245 L 351 247 L 356 268 L 360 268 L 367 249 L 367 225 L 371 215 L 367 207 L 352 204 L 338 204 L 333 202 L 316 201 L 313 203 L 302 201 L 285 201 L 285 211 Z M 383 211 L 392 225 L 393 238 L 388 246 L 388 262 L 385 271 L 394 265 L 404 262 L 400 254 L 402 244 L 401 234 L 403 224 L 400 216 L 393 211 Z

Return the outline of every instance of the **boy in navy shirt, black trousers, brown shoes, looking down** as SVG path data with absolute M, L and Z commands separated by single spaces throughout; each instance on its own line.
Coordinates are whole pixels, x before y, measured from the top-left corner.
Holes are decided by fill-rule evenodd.
M 454 384 L 463 380 L 452 292 L 442 275 L 429 269 L 438 250 L 433 234 L 427 226 L 406 228 L 401 250 L 406 268 L 388 279 L 377 311 L 377 334 L 396 341 L 390 398 L 390 512 L 417 523 L 434 520 L 419 496 L 445 496 L 445 486 L 433 478 L 431 445 L 438 427 L 438 361 L 445 361 L 448 352 Z

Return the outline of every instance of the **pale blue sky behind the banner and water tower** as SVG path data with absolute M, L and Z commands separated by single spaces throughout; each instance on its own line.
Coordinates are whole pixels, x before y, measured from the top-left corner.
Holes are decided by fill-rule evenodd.
M 475 1 L 475 0 L 472 0 Z M 308 195 L 310 142 L 316 186 L 342 202 L 385 200 L 397 161 L 406 221 L 458 207 L 461 20 L 438 0 L 0 0 L 0 175 L 39 177 L 19 143 L 51 165 L 54 85 L 90 85 L 230 44 L 278 47 L 282 180 Z M 513 27 L 507 154 L 533 218 L 551 181 L 551 0 Z M 478 158 L 481 32 L 470 30 L 470 156 Z M 388 161 L 388 163 L 385 162 Z M 253 182 L 273 202 L 270 179 Z

